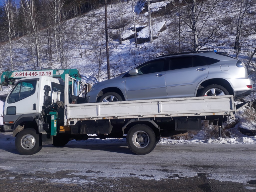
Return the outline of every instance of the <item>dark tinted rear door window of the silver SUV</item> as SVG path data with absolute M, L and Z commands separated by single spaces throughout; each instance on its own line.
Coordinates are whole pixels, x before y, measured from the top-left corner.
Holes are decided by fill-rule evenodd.
M 192 67 L 192 57 L 170 57 L 169 70 Z

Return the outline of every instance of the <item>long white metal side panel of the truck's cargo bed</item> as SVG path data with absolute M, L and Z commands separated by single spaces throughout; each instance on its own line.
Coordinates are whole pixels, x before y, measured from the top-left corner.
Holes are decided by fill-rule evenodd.
M 65 125 L 84 120 L 181 116 L 230 115 L 233 119 L 235 112 L 233 95 L 68 104 Z

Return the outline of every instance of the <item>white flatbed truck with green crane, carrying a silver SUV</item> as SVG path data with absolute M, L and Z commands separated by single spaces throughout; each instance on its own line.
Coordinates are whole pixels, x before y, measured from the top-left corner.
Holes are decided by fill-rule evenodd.
M 126 137 L 133 153 L 145 155 L 161 136 L 201 130 L 201 120 L 221 127 L 248 105 L 235 105 L 233 95 L 86 103 L 90 85 L 76 69 L 43 72 L 12 71 L 1 78 L 3 85 L 19 79 L 5 101 L 3 121 L 22 155 L 35 154 L 47 144 L 87 140 L 92 134 L 100 139 Z

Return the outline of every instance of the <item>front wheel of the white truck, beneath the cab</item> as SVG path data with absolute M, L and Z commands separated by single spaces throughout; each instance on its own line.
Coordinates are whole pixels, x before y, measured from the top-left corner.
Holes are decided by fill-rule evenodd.
M 15 138 L 15 146 L 22 155 L 33 155 L 39 152 L 42 145 L 39 140 L 39 134 L 33 128 L 23 129 Z

